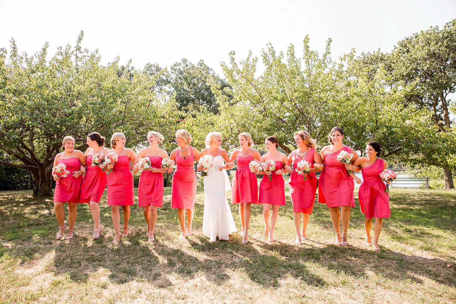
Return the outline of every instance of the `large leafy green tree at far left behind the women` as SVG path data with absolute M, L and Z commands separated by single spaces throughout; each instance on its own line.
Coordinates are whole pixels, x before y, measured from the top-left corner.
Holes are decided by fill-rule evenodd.
M 52 162 L 65 135 L 84 150 L 90 132 L 105 135 L 109 144 L 112 133 L 123 131 L 134 146 L 145 142 L 149 129 L 175 124 L 176 108 L 150 90 L 154 77 L 119 77 L 118 58 L 102 67 L 97 52 L 81 47 L 82 39 L 81 32 L 74 48 L 59 47 L 49 62 L 47 43 L 31 57 L 20 54 L 14 40 L 8 61 L 6 50 L 0 52 L 0 149 L 22 163 L 0 164 L 31 169 L 35 195 L 52 195 Z

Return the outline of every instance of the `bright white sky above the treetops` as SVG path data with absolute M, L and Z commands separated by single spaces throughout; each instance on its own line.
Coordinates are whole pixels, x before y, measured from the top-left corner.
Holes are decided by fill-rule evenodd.
M 203 59 L 222 74 L 220 62 L 230 51 L 239 61 L 249 50 L 259 56 L 271 42 L 277 51 L 293 43 L 299 53 L 307 34 L 320 54 L 331 37 L 333 59 L 352 48 L 388 52 L 404 37 L 456 18 L 456 1 L 1 0 L 0 13 L 0 47 L 7 50 L 14 37 L 29 55 L 45 41 L 53 54 L 59 45 L 74 46 L 83 30 L 83 47 L 98 48 L 103 63 L 119 56 L 136 68 L 169 67 L 181 58 Z

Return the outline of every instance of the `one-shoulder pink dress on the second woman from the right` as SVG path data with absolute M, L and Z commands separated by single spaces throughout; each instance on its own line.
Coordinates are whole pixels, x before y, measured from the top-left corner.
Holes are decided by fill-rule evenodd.
M 350 147 L 325 155 L 325 169 L 321 171 L 318 187 L 318 202 L 328 207 L 355 206 L 353 189 L 355 183 L 348 175 L 345 165 L 337 161 L 337 155 L 345 150 L 350 153 Z

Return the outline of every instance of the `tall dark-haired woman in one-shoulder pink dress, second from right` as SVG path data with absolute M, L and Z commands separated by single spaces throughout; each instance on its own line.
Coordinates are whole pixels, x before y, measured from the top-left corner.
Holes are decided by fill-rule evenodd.
M 342 150 L 353 153 L 353 163 L 358 159 L 358 154 L 352 148 L 342 144 L 342 140 L 342 128 L 334 127 L 328 134 L 328 142 L 330 144 L 320 151 L 321 159 L 324 161 L 325 166 L 320 175 L 318 202 L 326 204 L 329 208 L 332 225 L 334 226 L 337 237 L 335 244 L 347 246 L 350 208 L 355 206 L 355 198 L 353 196 L 355 185 L 352 177 L 347 173 L 346 166 L 337 161 L 337 155 Z M 353 165 L 347 165 L 347 167 L 349 170 L 354 169 Z M 317 166 L 317 168 L 320 169 L 321 167 Z M 361 183 L 358 177 L 355 176 L 355 178 L 358 184 Z M 341 208 L 340 216 L 339 207 Z M 342 222 L 342 235 L 340 232 L 340 222 Z

